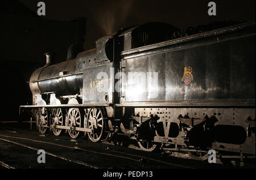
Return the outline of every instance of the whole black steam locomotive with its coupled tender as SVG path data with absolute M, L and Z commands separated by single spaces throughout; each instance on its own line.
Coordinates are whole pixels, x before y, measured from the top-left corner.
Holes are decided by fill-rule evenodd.
M 20 108 L 34 110 L 40 133 L 84 132 L 93 142 L 118 133 L 147 151 L 255 158 L 255 22 L 175 39 L 177 31 L 126 28 L 47 63 L 31 75 L 33 104 Z

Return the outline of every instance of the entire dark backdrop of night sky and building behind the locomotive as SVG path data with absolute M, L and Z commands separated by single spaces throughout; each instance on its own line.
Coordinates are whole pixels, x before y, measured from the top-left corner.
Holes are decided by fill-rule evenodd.
M 167 0 L 45 0 L 46 16 L 36 14 L 35 0 L 4 0 L 1 17 L 1 118 L 16 120 L 19 105 L 31 104 L 31 73 L 46 63 L 45 52 L 55 62 L 67 58 L 69 45 L 82 42 L 95 47 L 102 36 L 120 28 L 148 22 L 164 22 L 184 30 L 212 22 L 255 20 L 255 0 L 214 1 L 217 15 L 208 15 L 210 1 Z

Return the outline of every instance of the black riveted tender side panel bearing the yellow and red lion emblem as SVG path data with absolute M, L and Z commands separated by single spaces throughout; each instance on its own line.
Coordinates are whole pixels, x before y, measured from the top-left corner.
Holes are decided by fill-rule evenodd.
M 126 53 L 122 64 L 121 103 L 255 100 L 255 32 Z

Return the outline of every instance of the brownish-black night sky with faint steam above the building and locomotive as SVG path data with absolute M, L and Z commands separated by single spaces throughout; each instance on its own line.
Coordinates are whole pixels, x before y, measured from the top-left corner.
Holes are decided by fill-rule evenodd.
M 39 7 L 35 0 L 20 0 L 36 12 Z M 217 15 L 209 16 L 208 2 L 171 0 L 44 0 L 46 16 L 56 20 L 87 18 L 85 50 L 95 47 L 98 38 L 117 32 L 122 27 L 148 22 L 164 22 L 184 30 L 189 26 L 218 21 L 255 20 L 255 0 L 214 1 Z

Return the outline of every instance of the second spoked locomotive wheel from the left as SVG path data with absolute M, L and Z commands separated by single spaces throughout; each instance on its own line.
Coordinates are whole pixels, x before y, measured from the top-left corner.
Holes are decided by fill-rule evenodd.
M 62 113 L 61 108 L 53 108 L 51 118 L 52 118 L 53 125 L 63 125 L 64 121 L 63 121 L 63 113 Z M 52 133 L 55 136 L 59 136 L 61 133 L 61 129 L 57 129 L 57 128 L 53 127 Z

